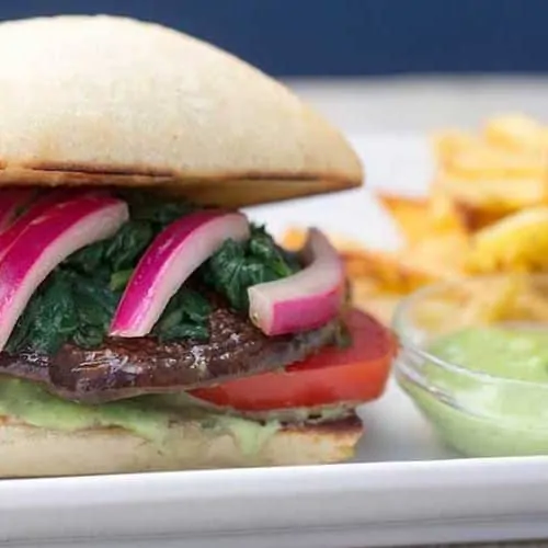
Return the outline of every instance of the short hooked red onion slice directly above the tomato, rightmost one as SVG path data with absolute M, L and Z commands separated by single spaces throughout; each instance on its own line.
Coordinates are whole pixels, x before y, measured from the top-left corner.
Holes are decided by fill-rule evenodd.
M 267 335 L 297 333 L 335 318 L 344 295 L 344 267 L 339 253 L 317 229 L 301 251 L 304 270 L 248 289 L 251 321 Z

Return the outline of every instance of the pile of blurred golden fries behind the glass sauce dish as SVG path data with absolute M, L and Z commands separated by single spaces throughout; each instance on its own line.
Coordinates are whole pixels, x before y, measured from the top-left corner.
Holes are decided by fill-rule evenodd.
M 357 306 L 389 321 L 402 296 L 472 274 L 548 272 L 548 126 L 521 114 L 476 134 L 432 136 L 435 175 L 424 198 L 377 193 L 403 237 L 380 252 L 331 235 Z M 298 248 L 305 233 L 288 230 Z

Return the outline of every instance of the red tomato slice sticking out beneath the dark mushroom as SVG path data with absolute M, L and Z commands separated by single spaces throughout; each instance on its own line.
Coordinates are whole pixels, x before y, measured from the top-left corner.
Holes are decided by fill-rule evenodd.
M 346 326 L 353 343 L 327 347 L 281 372 L 252 375 L 190 393 L 219 407 L 269 411 L 378 398 L 396 351 L 392 334 L 370 316 L 351 310 Z

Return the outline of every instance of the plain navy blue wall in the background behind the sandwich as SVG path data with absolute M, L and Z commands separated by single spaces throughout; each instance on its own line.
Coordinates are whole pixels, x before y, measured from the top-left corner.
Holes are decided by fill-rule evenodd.
M 548 71 L 548 0 L 0 0 L 60 12 L 165 23 L 277 76 Z

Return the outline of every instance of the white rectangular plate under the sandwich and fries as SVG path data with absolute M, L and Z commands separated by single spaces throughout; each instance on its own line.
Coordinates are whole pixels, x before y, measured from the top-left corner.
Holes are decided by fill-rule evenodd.
M 421 138 L 354 142 L 369 186 L 424 190 Z M 250 214 L 275 232 L 313 224 L 370 246 L 399 240 L 365 190 Z M 393 384 L 363 415 L 352 464 L 0 482 L 0 541 L 322 548 L 548 537 L 548 459 L 456 458 Z

